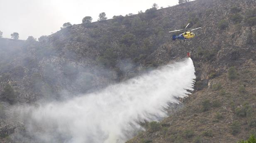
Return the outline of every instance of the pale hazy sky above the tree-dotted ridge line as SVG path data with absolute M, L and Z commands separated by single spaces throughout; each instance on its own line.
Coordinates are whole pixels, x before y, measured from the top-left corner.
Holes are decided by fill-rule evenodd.
M 154 2 L 159 8 L 178 4 L 178 0 L 0 0 L 0 30 L 4 38 L 10 38 L 13 32 L 23 40 L 29 35 L 39 38 L 60 30 L 65 22 L 79 24 L 85 16 L 97 21 L 101 12 L 109 19 L 137 14 L 151 8 Z

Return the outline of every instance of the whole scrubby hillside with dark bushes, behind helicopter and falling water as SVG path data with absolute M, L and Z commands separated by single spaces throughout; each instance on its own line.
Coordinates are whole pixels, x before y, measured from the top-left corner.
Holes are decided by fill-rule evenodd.
M 202 26 L 172 41 L 170 30 Z M 178 34 L 178 33 L 176 33 Z M 128 143 L 234 143 L 256 134 L 256 2 L 195 0 L 63 28 L 39 41 L 0 38 L 0 141 L 36 142 L 12 105 L 98 91 L 191 53 L 195 91 Z M 175 105 L 176 107 L 177 105 Z

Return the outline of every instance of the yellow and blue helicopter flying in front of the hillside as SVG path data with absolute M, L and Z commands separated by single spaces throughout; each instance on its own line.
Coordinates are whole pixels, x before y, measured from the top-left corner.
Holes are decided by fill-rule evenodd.
M 190 23 L 188 23 L 189 25 Z M 195 28 L 195 29 L 187 29 L 188 25 L 185 27 L 185 29 L 180 29 L 180 30 L 174 30 L 174 31 L 170 31 L 171 32 L 176 32 L 176 31 L 180 31 L 180 32 L 183 32 L 181 33 L 180 35 L 176 36 L 176 35 L 173 35 L 173 41 L 176 40 L 176 39 L 179 39 L 179 40 L 186 40 L 186 39 L 190 39 L 190 38 L 194 38 L 195 37 L 195 34 L 191 31 L 193 30 L 196 30 L 196 29 L 199 29 L 199 28 Z M 182 31 L 182 30 L 185 30 L 185 31 Z M 188 30 L 188 31 L 187 31 Z

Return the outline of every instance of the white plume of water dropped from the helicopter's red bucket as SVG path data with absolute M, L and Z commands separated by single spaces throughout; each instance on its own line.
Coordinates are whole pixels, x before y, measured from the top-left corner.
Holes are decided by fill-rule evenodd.
M 124 142 L 140 129 L 139 121 L 166 117 L 168 103 L 178 103 L 193 90 L 193 61 L 158 70 L 111 85 L 102 91 L 59 103 L 20 108 L 25 126 L 38 141 L 56 143 Z

